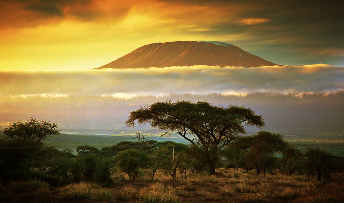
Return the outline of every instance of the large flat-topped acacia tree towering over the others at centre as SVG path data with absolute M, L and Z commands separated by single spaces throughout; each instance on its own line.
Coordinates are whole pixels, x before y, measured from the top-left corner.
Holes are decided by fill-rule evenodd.
M 218 151 L 236 137 L 245 134 L 245 126 L 265 126 L 264 119 L 249 108 L 225 108 L 206 101 L 156 102 L 130 112 L 126 121 L 129 127 L 146 123 L 164 131 L 163 135 L 176 131 L 198 148 L 210 168 L 209 174 L 215 173 Z M 201 144 L 198 145 L 187 135 L 193 135 Z

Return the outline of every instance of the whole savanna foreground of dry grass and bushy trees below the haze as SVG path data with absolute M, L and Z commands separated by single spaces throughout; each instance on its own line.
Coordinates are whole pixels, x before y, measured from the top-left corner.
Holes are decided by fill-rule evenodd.
M 344 201 L 344 157 L 319 147 L 300 150 L 278 133 L 235 137 L 212 153 L 197 139 L 148 140 L 138 132 L 134 140 L 112 142 L 60 135 L 57 128 L 31 117 L 1 131 L 1 202 Z M 52 146 L 54 137 L 69 139 L 70 148 Z

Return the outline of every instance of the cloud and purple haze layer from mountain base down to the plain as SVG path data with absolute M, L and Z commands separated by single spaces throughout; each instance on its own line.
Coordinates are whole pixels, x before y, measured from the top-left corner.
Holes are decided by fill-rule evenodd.
M 64 133 L 112 134 L 130 111 L 166 100 L 244 105 L 266 130 L 344 131 L 344 67 L 325 64 L 0 72 L 0 89 L 0 123 L 34 116 Z

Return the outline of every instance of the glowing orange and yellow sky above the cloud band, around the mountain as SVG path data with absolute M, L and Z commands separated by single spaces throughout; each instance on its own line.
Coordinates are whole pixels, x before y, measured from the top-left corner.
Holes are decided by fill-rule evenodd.
M 343 65 L 343 3 L 326 2 L 3 0 L 0 70 L 88 70 L 181 40 L 225 41 L 284 65 Z

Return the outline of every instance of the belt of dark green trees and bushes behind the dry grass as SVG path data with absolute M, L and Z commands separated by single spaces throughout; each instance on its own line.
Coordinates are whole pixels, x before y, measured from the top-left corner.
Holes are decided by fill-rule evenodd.
M 257 176 L 266 173 L 307 174 L 330 178 L 342 172 L 344 157 L 333 156 L 324 149 L 308 148 L 304 153 L 290 146 L 280 134 L 260 131 L 252 136 L 236 137 L 226 147 L 211 153 L 200 140 L 194 144 L 147 140 L 137 134 L 137 141 L 123 141 L 111 147 L 97 149 L 89 145 L 58 151 L 47 147 L 44 140 L 59 133 L 58 126 L 46 120 L 30 118 L 28 122 L 12 123 L 2 130 L 0 139 L 0 178 L 10 180 L 40 179 L 50 185 L 65 185 L 80 181 L 95 181 L 104 186 L 114 184 L 114 174 L 120 171 L 131 180 L 149 176 L 154 180 L 158 170 L 170 174 L 173 185 L 176 174 L 182 179 L 188 174 L 209 173 L 213 168 L 254 170 Z M 209 145 L 210 146 L 210 145 Z M 205 154 L 204 152 L 210 151 Z M 277 156 L 279 154 L 279 156 Z M 209 166 L 209 160 L 212 165 Z M 261 174 L 262 173 L 262 174 Z

